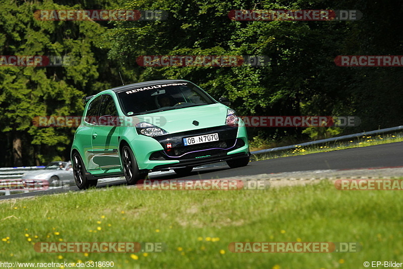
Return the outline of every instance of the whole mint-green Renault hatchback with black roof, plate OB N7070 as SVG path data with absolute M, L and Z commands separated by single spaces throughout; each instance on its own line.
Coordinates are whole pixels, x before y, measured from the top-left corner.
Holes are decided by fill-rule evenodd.
M 214 100 L 185 80 L 130 84 L 83 98 L 83 119 L 71 150 L 80 189 L 99 178 L 123 176 L 128 184 L 149 172 L 226 161 L 246 166 L 249 147 L 243 121 L 229 100 Z

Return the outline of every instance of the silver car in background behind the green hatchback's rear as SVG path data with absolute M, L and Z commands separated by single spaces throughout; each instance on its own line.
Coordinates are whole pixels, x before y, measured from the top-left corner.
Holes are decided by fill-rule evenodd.
M 24 173 L 22 180 L 47 180 L 49 186 L 62 187 L 74 183 L 72 163 L 51 162 L 44 169 L 33 170 Z

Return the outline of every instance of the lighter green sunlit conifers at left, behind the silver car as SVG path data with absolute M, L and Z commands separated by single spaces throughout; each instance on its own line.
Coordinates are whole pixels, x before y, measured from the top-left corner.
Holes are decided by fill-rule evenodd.
M 36 127 L 35 116 L 81 115 L 84 95 L 120 84 L 116 65 L 104 55 L 102 40 L 108 24 L 93 21 L 40 21 L 36 10 L 84 9 L 52 1 L 9 2 L 0 5 L 0 44 L 2 55 L 69 56 L 70 66 L 1 66 L 0 138 L 6 154 L 0 166 L 39 165 L 68 159 L 74 129 Z M 85 9 L 111 4 L 94 1 Z M 112 76 L 113 75 L 113 76 Z

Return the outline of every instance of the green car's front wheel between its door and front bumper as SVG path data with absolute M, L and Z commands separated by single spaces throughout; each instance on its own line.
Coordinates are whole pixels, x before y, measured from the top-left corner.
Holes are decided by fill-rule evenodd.
M 140 173 L 136 158 L 130 147 L 125 145 L 121 151 L 122 166 L 127 185 L 134 185 L 137 181 L 146 179 L 148 173 Z

